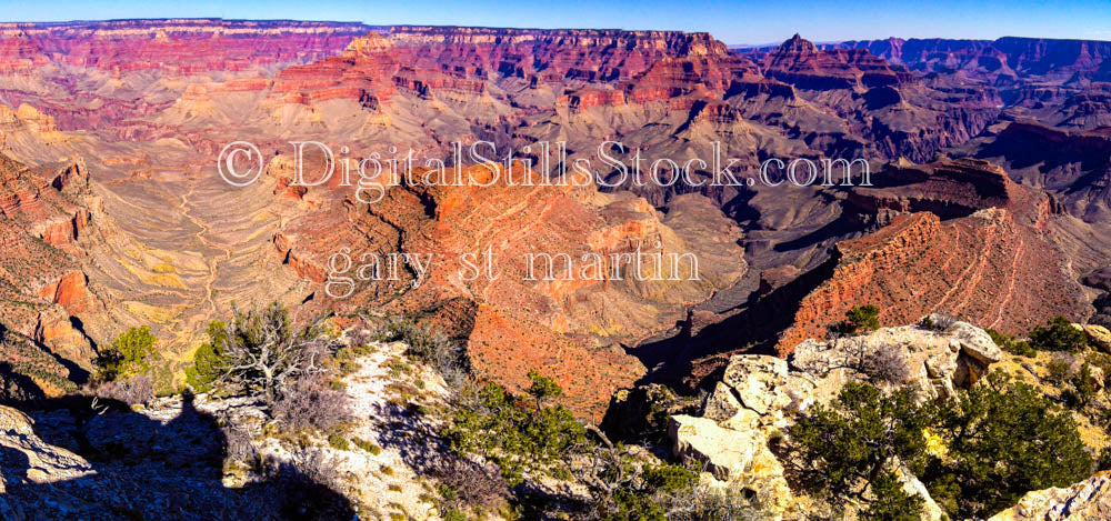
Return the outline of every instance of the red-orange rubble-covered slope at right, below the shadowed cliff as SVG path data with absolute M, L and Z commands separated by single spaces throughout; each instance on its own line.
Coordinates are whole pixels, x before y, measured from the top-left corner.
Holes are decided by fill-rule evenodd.
M 865 303 L 880 307 L 884 324 L 940 312 L 1012 334 L 1054 314 L 1083 317 L 1080 284 L 1031 219 L 995 208 L 949 221 L 900 214 L 875 233 L 839 243 L 832 275 L 802 299 L 777 349 L 789 354 Z

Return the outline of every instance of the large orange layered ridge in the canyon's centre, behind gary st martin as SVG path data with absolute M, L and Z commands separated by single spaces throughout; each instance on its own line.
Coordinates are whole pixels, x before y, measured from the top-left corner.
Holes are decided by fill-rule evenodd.
M 277 164 L 271 171 L 282 176 Z M 521 164 L 516 171 L 518 181 L 540 179 Z M 346 212 L 321 202 L 320 211 L 279 230 L 274 247 L 323 290 L 321 305 L 356 310 L 376 303 L 454 314 L 442 322 L 467 337 L 480 373 L 523 387 L 530 370 L 543 368 L 591 413 L 643 372 L 635 359 L 599 341 L 652 334 L 680 320 L 685 304 L 744 274 L 740 230 L 704 198 L 684 197 L 677 206 L 682 209 L 661 220 L 643 199 L 627 193 L 512 186 L 497 166 L 461 172 L 487 186 L 397 186 L 373 204 L 346 199 Z M 303 203 L 331 197 L 312 189 Z M 691 234 L 680 232 L 695 227 L 717 238 L 682 239 Z M 330 256 L 343 247 L 351 247 L 352 268 L 330 272 Z M 394 280 L 391 252 L 411 256 Z M 368 264 L 380 268 L 383 280 L 358 280 Z M 350 295 L 331 299 L 348 291 L 336 282 L 339 277 L 356 283 Z

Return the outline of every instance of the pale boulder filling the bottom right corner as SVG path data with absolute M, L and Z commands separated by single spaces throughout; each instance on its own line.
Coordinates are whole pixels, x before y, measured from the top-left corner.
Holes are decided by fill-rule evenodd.
M 1111 472 L 1099 472 L 1072 487 L 1027 492 L 988 521 L 1087 521 L 1111 519 Z

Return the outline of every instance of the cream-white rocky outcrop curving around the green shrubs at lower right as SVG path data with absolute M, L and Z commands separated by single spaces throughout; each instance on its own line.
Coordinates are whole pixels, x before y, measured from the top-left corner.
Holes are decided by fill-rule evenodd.
M 905 369 L 899 372 L 902 381 L 879 385 L 907 385 L 927 399 L 971 385 L 1002 355 L 988 333 L 965 322 L 882 328 L 837 342 L 807 340 L 793 352 L 788 360 L 733 355 L 701 417 L 674 415 L 669 430 L 677 457 L 701 463 L 719 481 L 743 483 L 781 513 L 805 502 L 792 495 L 769 443 L 783 437 L 797 414 L 833 400 L 845 383 L 872 379 L 872 357 L 887 354 Z M 925 500 L 925 519 L 942 519 L 922 483 L 905 469 L 897 473 L 908 492 Z

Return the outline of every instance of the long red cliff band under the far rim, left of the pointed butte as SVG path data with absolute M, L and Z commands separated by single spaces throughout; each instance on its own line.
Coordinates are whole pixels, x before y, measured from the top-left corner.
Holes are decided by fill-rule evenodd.
M 582 88 L 574 108 L 660 101 L 699 93 L 720 98 L 732 77 L 755 68 L 707 33 L 394 27 L 388 38 L 356 39 L 340 57 L 282 71 L 274 91 L 290 101 L 387 101 L 396 87 L 479 94 L 496 74 L 532 87 Z M 323 98 L 321 98 L 323 97 Z

